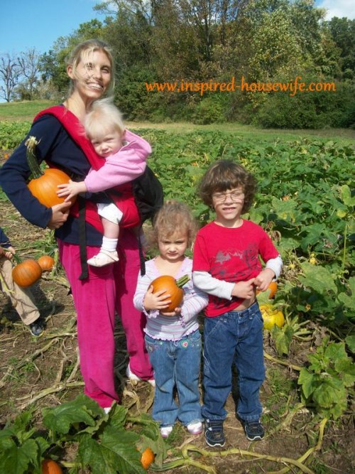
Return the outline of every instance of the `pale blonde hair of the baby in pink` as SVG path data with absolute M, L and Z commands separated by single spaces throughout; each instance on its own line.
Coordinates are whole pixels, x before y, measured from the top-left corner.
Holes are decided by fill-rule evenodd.
M 95 100 L 84 118 L 84 129 L 89 140 L 100 139 L 111 131 L 124 134 L 122 114 L 111 98 Z

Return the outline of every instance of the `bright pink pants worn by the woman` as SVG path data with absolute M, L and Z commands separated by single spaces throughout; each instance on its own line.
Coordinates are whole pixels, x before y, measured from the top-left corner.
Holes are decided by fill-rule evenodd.
M 131 371 L 142 379 L 153 378 L 144 343 L 146 318 L 133 306 L 138 271 L 138 244 L 132 232 L 121 230 L 116 264 L 88 266 L 89 277 L 80 280 L 79 245 L 58 240 L 60 262 L 72 287 L 77 312 L 77 340 L 84 393 L 100 406 L 111 406 L 119 397 L 114 388 L 114 318 L 121 317 L 126 334 Z M 87 247 L 87 258 L 99 247 Z

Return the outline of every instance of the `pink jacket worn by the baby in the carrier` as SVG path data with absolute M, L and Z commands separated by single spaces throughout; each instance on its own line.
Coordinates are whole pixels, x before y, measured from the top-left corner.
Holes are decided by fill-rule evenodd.
M 114 186 L 129 183 L 141 176 L 151 153 L 148 141 L 126 130 L 124 139 L 129 143 L 106 159 L 99 170 L 91 170 L 84 180 L 90 193 L 98 193 Z

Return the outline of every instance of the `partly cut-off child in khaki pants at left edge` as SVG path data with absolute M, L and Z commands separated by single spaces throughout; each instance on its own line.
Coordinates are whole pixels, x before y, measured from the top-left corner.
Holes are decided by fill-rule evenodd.
M 39 336 L 43 333 L 44 322 L 33 303 L 32 293 L 29 289 L 16 285 L 12 279 L 10 260 L 14 253 L 11 242 L 0 227 L 0 289 L 9 296 L 13 308 L 18 312 L 23 324 L 28 325 L 31 334 Z

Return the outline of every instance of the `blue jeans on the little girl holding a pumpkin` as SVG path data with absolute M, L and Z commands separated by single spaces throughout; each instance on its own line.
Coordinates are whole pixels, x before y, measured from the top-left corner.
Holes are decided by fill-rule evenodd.
M 201 335 L 197 330 L 180 340 L 153 339 L 146 335 L 146 348 L 154 370 L 153 419 L 170 426 L 179 419 L 187 425 L 202 421 L 199 376 Z M 174 400 L 178 390 L 179 406 Z

